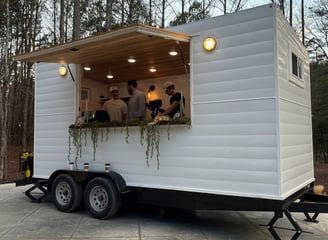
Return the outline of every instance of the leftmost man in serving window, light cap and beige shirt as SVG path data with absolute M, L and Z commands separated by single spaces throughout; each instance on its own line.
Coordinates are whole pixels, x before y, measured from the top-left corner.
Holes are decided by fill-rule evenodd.
M 118 88 L 112 86 L 110 89 L 111 99 L 104 103 L 104 110 L 109 114 L 110 121 L 121 122 L 126 120 L 128 114 L 128 107 L 126 103 L 118 96 Z

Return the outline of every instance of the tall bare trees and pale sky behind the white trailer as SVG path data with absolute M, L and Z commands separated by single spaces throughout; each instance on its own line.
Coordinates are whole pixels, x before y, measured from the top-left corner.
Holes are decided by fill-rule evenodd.
M 316 163 L 328 163 L 328 0 L 1 0 L 0 183 L 21 176 L 33 152 L 34 64 L 14 56 L 132 23 L 168 27 L 275 2 L 311 61 Z

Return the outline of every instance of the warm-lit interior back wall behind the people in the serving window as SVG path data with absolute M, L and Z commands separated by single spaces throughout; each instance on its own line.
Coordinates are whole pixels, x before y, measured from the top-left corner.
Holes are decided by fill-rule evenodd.
M 164 76 L 160 78 L 149 78 L 137 80 L 137 88 L 145 95 L 147 110 L 145 120 L 152 120 L 161 115 L 161 111 L 170 106 L 170 96 L 163 88 L 165 82 L 174 83 L 177 92 L 182 96 L 184 117 L 190 118 L 190 80 L 189 74 Z M 80 115 L 94 116 L 95 112 L 104 110 L 104 104 L 111 99 L 110 90 L 118 88 L 119 98 L 126 104 L 130 99 L 127 82 L 100 82 L 91 78 L 83 77 L 81 82 Z M 85 114 L 87 112 L 87 114 Z

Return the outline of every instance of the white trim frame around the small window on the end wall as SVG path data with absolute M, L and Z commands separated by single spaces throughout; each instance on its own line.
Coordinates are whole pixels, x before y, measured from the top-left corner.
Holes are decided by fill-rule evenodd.
M 302 61 L 302 78 L 296 76 L 293 74 L 293 60 L 292 60 L 292 54 L 294 54 L 297 59 L 300 59 Z M 305 58 L 303 54 L 301 54 L 300 51 L 298 51 L 296 48 L 294 48 L 292 45 L 289 45 L 289 51 L 288 51 L 288 80 L 292 84 L 297 85 L 298 87 L 305 88 L 305 82 L 304 82 L 304 63 Z

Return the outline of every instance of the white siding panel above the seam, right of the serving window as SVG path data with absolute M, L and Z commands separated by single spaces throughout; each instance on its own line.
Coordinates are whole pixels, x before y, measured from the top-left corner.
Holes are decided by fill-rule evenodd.
M 211 53 L 202 49 L 207 36 L 218 41 Z M 274 97 L 273 46 L 271 15 L 203 27 L 192 38 L 193 103 Z

